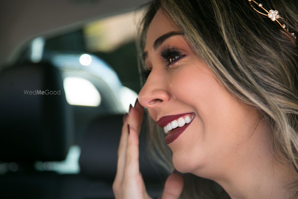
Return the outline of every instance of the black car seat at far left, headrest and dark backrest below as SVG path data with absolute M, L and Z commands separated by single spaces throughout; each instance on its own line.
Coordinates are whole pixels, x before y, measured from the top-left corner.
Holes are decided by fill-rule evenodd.
M 35 161 L 64 160 L 72 144 L 70 110 L 58 70 L 22 64 L 0 72 L 0 198 L 59 198 L 60 175 Z

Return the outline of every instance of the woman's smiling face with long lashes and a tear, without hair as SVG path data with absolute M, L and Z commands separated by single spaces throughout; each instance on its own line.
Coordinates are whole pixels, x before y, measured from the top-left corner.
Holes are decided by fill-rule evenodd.
M 179 137 L 168 144 L 175 168 L 209 177 L 206 172 L 213 175 L 219 166 L 230 167 L 260 120 L 257 109 L 239 103 L 221 87 L 162 10 L 149 26 L 144 52 L 151 72 L 139 102 L 153 120 L 195 114 Z

